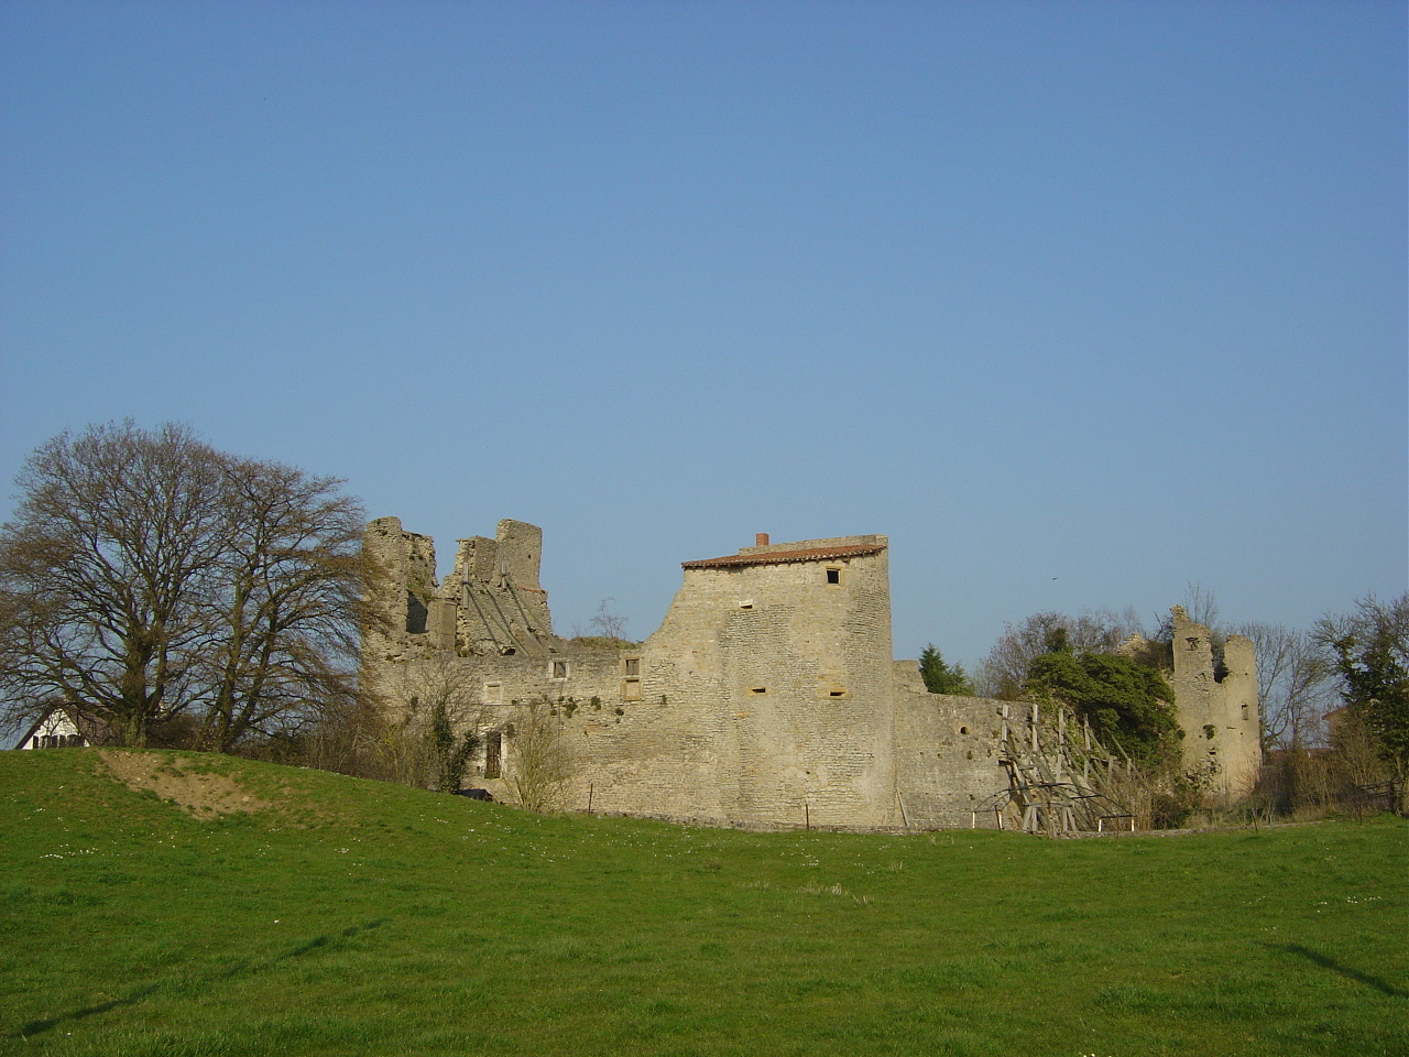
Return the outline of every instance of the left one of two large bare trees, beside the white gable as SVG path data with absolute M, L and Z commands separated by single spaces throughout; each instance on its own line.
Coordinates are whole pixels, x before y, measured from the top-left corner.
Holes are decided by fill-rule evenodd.
M 145 746 L 200 698 L 216 452 L 180 426 L 101 426 L 39 447 L 15 483 L 15 520 L 0 530 L 0 685 L 11 707 L 62 702 Z

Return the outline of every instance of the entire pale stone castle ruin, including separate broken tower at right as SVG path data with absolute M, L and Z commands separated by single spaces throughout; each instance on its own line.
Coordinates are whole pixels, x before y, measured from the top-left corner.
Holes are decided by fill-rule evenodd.
M 364 685 L 389 709 L 452 698 L 479 734 L 466 782 L 496 796 L 516 799 L 514 779 L 542 765 L 526 722 L 547 713 L 569 809 L 764 827 L 1096 829 L 1120 815 L 1086 781 L 1092 761 L 1113 765 L 1089 731 L 1029 703 L 929 693 L 914 661 L 893 660 L 883 536 L 759 534 L 686 561 L 640 644 L 554 634 L 535 526 L 461 540 L 440 582 L 433 541 L 396 517 L 372 521 L 365 547 L 389 586 Z M 1251 644 L 1230 643 L 1216 679 L 1208 629 L 1181 617 L 1186 754 L 1234 789 L 1258 762 Z

